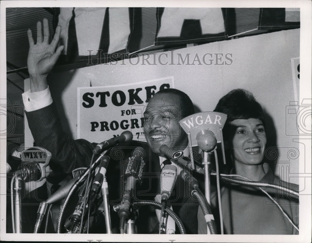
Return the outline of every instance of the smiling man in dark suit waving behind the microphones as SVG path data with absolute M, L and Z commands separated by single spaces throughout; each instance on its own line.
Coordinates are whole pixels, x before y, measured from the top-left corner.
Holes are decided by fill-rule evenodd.
M 27 64 L 30 76 L 30 90 L 23 94 L 28 124 L 36 146 L 44 147 L 52 154 L 50 167 L 54 175 L 56 175 L 54 177 L 50 176 L 48 179 L 52 183 L 58 183 L 74 169 L 88 166 L 92 150 L 96 146 L 96 143 L 90 143 L 84 139 L 72 140 L 64 133 L 51 98 L 47 75 L 54 67 L 64 48 L 59 46 L 56 49 L 60 32 L 61 27 L 57 26 L 54 38 L 49 44 L 48 21 L 44 19 L 43 36 L 41 22 L 38 22 L 37 43 L 34 44 L 32 31 L 28 30 L 30 49 Z M 124 157 L 127 157 L 135 147 L 143 147 L 145 151 L 148 151 L 144 157 L 144 160 L 147 161 L 145 173 L 159 175 L 164 166 L 164 161 L 168 162 L 168 158 L 162 152 L 163 144 L 169 148 L 178 147 L 185 155 L 188 155 L 188 137 L 180 128 L 179 121 L 193 113 L 193 103 L 182 91 L 175 89 L 159 91 L 149 100 L 144 112 L 144 133 L 148 143 L 132 141 L 130 144 L 120 144 L 120 148 L 124 151 Z M 174 161 L 169 161 L 169 163 L 174 163 Z M 111 161 L 107 171 L 119 171 L 119 164 Z M 120 177 L 112 174 L 113 172 L 107 175 L 108 184 L 111 187 L 110 198 L 119 199 L 120 191 L 113 187 L 119 185 L 118 188 L 120 189 Z M 174 195 L 173 210 L 181 218 L 186 232 L 188 234 L 197 234 L 198 203 L 190 197 L 187 185 L 179 177 L 176 187 L 176 191 L 183 191 L 184 195 L 178 193 Z M 154 199 L 154 196 L 159 194 L 161 190 L 159 176 L 154 179 L 149 178 L 147 182 L 145 181 L 141 191 L 145 190 L 146 192 L 146 188 L 148 191 L 144 199 Z M 111 195 L 111 192 L 113 192 L 113 195 Z M 144 210 L 147 209 L 140 210 L 138 217 L 138 232 L 155 233 L 158 230 L 158 222 L 153 219 L 154 215 L 151 215 L 148 210 L 149 219 L 147 219 Z

